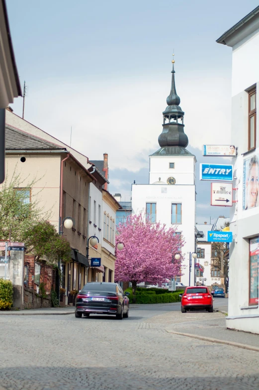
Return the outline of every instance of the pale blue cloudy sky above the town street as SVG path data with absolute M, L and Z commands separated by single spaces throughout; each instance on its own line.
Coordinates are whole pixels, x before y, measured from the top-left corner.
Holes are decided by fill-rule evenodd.
M 109 191 L 130 200 L 131 184 L 148 183 L 158 150 L 172 54 L 185 112 L 187 150 L 229 144 L 231 48 L 216 43 L 258 6 L 256 0 L 6 0 L 24 119 L 89 160 L 108 153 Z M 22 98 L 11 104 L 22 115 Z M 205 160 L 205 161 L 204 161 Z M 197 181 L 197 222 L 228 215 L 210 206 L 210 184 Z M 213 222 L 213 220 L 212 220 Z

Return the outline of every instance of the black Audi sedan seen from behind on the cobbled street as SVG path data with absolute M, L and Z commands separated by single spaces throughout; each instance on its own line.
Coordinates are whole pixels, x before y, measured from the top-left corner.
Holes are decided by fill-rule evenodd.
M 76 297 L 75 316 L 81 318 L 82 314 L 116 315 L 117 319 L 129 316 L 129 292 L 122 291 L 117 283 L 89 282 L 86 283 Z

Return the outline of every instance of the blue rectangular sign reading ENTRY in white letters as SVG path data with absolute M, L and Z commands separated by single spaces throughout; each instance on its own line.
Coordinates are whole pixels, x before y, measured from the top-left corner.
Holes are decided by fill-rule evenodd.
M 200 180 L 232 182 L 233 165 L 200 164 Z

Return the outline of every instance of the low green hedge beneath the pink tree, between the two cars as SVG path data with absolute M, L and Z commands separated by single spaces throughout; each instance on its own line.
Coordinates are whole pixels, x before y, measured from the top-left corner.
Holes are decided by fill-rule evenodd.
M 157 291 L 150 291 L 150 290 L 151 289 L 137 288 L 136 303 L 150 304 L 150 303 L 180 302 L 181 298 L 179 297 L 179 294 L 183 292 L 183 291 L 169 292 L 163 289 L 155 289 Z M 130 295 L 128 295 L 130 303 L 133 303 L 132 288 L 128 288 L 126 291 L 130 293 Z

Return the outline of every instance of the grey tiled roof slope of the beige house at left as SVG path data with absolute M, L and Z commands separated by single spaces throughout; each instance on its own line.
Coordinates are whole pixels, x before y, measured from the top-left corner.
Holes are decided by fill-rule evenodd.
M 28 134 L 22 130 L 14 129 L 11 126 L 5 126 L 5 149 L 7 150 L 35 150 L 35 149 L 56 149 L 65 148 L 52 142 L 45 141 L 35 135 Z

